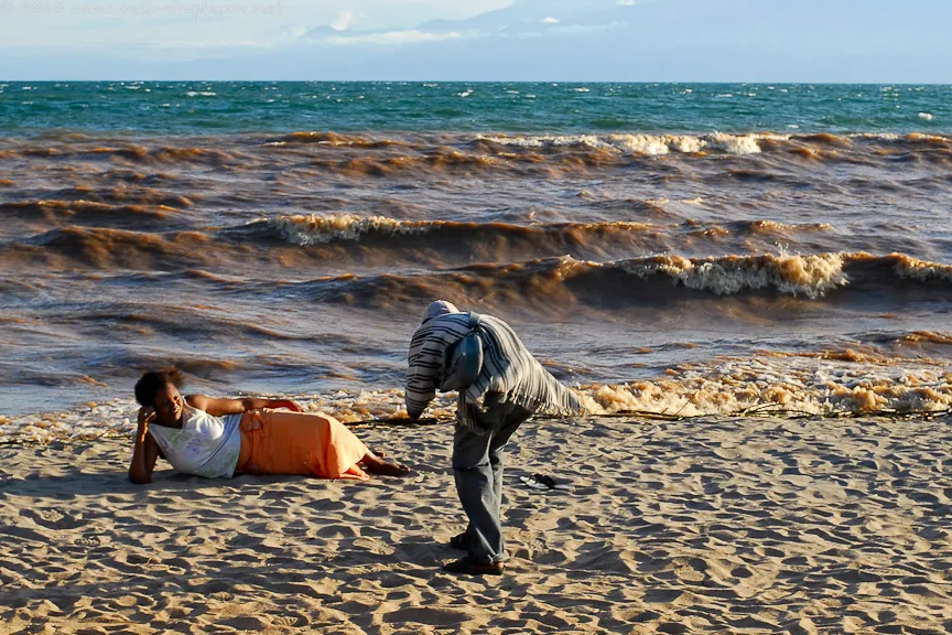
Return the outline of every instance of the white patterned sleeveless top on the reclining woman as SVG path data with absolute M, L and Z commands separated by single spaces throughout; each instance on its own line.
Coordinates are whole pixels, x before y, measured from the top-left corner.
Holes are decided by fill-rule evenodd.
M 182 428 L 149 426 L 165 459 L 183 474 L 231 477 L 241 453 L 241 415 L 213 417 L 185 406 L 184 416 Z

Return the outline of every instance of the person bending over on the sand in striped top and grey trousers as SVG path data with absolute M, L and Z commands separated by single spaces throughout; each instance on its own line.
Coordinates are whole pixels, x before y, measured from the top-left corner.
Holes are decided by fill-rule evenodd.
M 502 320 L 463 313 L 443 300 L 430 304 L 410 343 L 407 412 L 419 419 L 443 381 L 447 349 L 476 331 L 483 366 L 459 389 L 453 435 L 456 493 L 469 525 L 450 543 L 467 556 L 444 564 L 453 573 L 500 574 L 505 568 L 500 509 L 502 448 L 537 410 L 572 415 L 582 407 L 575 396 L 532 356 Z

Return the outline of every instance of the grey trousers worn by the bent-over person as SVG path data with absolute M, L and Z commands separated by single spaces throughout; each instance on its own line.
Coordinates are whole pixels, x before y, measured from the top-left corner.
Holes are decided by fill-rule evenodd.
M 476 434 L 456 426 L 453 434 L 453 475 L 456 493 L 469 518 L 466 528 L 469 557 L 477 562 L 501 562 L 502 546 L 502 448 L 516 429 L 533 412 L 513 403 L 489 408 L 480 419 L 493 423 L 488 434 Z

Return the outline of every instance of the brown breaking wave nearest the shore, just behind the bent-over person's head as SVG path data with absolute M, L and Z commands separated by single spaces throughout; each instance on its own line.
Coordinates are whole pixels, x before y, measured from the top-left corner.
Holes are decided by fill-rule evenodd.
M 910 281 L 952 281 L 950 272 L 946 265 L 902 254 L 653 256 L 606 262 L 560 257 L 420 275 L 348 275 L 300 286 L 317 301 L 370 306 L 445 297 L 490 305 L 547 306 L 572 300 L 582 306 L 610 308 L 664 304 L 679 295 L 679 289 L 720 297 L 775 293 L 808 300 L 854 290 L 858 300 L 854 294 L 844 298 L 845 302 L 875 301 L 883 293 L 911 293 Z M 930 291 L 926 288 L 922 293 Z

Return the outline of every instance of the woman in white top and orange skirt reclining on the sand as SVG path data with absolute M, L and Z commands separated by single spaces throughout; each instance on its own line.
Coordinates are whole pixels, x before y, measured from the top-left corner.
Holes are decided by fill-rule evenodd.
M 321 478 L 405 476 L 410 470 L 382 460 L 339 421 L 304 413 L 290 399 L 182 397 L 182 373 L 145 373 L 136 384 L 139 430 L 129 480 L 152 480 L 162 456 L 182 473 L 216 478 L 235 474 L 306 474 Z M 286 408 L 293 412 L 272 410 Z

